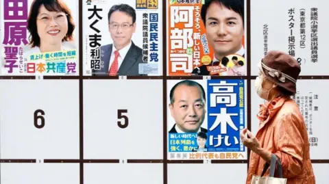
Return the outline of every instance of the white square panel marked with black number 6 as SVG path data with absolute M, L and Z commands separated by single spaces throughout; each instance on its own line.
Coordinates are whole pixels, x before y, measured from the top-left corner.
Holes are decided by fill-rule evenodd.
M 1 159 L 79 159 L 79 81 L 0 80 L 0 86 Z M 45 112 L 41 129 L 34 126 L 37 109 Z

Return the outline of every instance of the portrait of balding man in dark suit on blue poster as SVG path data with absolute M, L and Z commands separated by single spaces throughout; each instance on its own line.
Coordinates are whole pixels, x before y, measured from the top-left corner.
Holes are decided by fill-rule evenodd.
M 168 127 L 169 133 L 207 133 L 202 127 L 206 116 L 206 92 L 202 85 L 180 81 L 171 88 L 169 96 L 169 111 L 175 122 Z

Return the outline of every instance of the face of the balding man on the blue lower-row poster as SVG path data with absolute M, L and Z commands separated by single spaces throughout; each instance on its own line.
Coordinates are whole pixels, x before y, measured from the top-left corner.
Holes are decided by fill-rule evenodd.
M 186 133 L 195 133 L 204 122 L 206 109 L 202 91 L 197 86 L 178 86 L 169 105 L 176 125 Z

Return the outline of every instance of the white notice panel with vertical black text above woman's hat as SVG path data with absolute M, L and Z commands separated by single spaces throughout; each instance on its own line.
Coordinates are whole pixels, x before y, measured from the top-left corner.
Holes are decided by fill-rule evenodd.
M 300 75 L 328 75 L 329 12 L 326 1 L 250 1 L 251 57 L 255 66 L 268 51 L 280 50 L 295 57 Z M 266 13 L 265 13 L 266 12 Z M 252 75 L 258 70 L 252 67 Z

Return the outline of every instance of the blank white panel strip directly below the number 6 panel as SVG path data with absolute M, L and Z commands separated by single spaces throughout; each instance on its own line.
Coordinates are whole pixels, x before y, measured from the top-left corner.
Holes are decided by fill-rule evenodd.
M 1 163 L 3 184 L 79 184 L 79 163 Z

